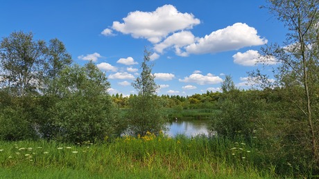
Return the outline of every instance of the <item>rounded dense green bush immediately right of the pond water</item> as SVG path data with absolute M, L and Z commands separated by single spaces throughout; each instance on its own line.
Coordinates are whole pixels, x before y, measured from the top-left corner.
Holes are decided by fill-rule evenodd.
M 233 90 L 223 96 L 221 113 L 214 116 L 212 130 L 219 136 L 250 138 L 261 117 L 259 91 Z

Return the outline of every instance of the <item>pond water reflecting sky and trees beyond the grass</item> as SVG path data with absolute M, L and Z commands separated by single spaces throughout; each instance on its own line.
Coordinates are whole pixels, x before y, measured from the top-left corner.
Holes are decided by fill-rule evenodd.
M 169 122 L 167 127 L 169 129 L 165 133 L 171 137 L 178 134 L 184 134 L 188 137 L 199 134 L 209 135 L 207 120 L 178 120 Z

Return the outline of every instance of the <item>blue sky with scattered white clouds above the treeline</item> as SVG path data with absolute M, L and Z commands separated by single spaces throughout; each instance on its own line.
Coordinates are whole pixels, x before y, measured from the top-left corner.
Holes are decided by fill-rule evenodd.
M 34 39 L 58 38 L 74 62 L 92 59 L 109 92 L 136 93 L 146 46 L 153 52 L 159 95 L 218 91 L 225 75 L 245 86 L 261 46 L 284 41 L 286 29 L 265 1 L 3 1 L 0 37 L 22 30 Z M 275 64 L 272 64 L 274 66 Z M 270 66 L 271 67 L 271 66 Z M 266 70 L 267 73 L 267 70 Z

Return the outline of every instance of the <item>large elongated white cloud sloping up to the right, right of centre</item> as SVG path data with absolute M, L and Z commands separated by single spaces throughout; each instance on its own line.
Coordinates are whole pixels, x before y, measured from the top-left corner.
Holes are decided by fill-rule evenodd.
M 199 38 L 196 43 L 185 47 L 187 55 L 218 53 L 228 50 L 238 50 L 247 46 L 260 46 L 267 43 L 267 39 L 257 35 L 257 30 L 245 23 L 234 23 L 210 35 Z

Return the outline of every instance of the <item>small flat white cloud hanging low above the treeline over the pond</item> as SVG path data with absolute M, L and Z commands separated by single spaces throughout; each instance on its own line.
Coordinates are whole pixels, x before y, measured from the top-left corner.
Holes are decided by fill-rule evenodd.
M 178 79 L 180 82 L 191 82 L 196 84 L 218 84 L 223 82 L 223 79 L 218 76 L 214 76 L 211 73 L 207 75 L 201 75 L 198 73 L 191 74 L 189 77 L 184 77 L 184 79 Z

